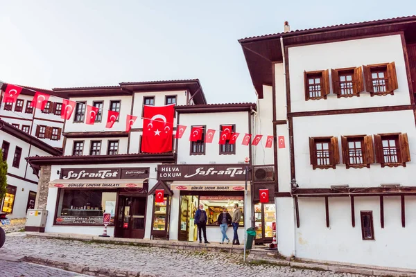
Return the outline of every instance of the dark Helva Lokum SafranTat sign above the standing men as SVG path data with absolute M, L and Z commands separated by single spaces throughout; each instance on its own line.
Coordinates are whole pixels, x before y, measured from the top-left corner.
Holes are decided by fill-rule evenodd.
M 157 166 L 157 179 L 166 181 L 232 181 L 245 180 L 245 166 L 238 165 L 176 165 Z M 248 180 L 251 179 L 248 172 Z

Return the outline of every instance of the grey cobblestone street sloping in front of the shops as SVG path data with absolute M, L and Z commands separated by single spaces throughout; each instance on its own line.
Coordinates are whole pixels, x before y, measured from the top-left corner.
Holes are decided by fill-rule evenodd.
M 157 247 L 97 244 L 73 240 L 28 238 L 8 235 L 2 255 L 31 256 L 104 269 L 140 271 L 140 276 L 361 276 L 244 264 L 242 256 L 229 253 L 195 252 Z M 10 276 L 10 275 L 8 275 Z M 35 276 L 35 275 L 31 275 Z M 48 275 L 44 275 L 48 276 Z M 76 276 L 76 275 L 59 275 Z

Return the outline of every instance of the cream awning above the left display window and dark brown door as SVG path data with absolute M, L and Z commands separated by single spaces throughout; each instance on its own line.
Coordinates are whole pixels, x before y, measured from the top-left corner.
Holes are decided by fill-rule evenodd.
M 62 180 L 49 182 L 49 188 L 143 188 L 147 179 Z

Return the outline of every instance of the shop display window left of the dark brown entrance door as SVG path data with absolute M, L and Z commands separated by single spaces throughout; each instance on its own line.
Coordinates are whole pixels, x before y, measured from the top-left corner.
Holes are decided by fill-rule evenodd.
M 115 190 L 62 189 L 59 195 L 55 224 L 103 225 L 103 213 L 111 213 L 110 226 L 116 212 Z

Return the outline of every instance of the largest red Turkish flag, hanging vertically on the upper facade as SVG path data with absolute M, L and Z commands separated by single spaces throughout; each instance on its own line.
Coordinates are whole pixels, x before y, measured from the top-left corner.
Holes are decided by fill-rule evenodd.
M 143 109 L 141 152 L 171 152 L 175 105 L 162 107 L 144 105 Z

